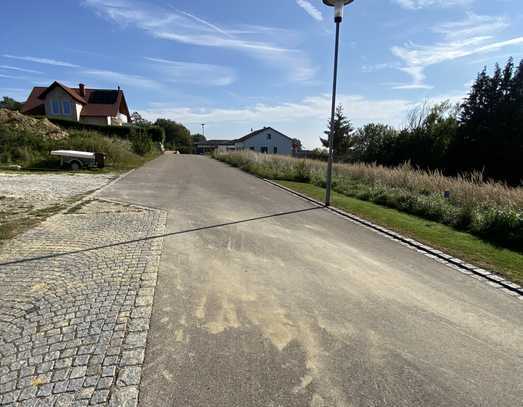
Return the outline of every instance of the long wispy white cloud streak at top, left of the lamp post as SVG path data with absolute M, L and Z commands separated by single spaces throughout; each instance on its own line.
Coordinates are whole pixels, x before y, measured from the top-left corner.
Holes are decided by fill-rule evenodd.
M 308 81 L 316 73 L 316 68 L 302 51 L 281 45 L 293 35 L 282 29 L 219 27 L 186 12 L 136 0 L 84 0 L 83 4 L 104 18 L 122 26 L 137 27 L 155 38 L 245 53 L 285 70 L 290 80 Z M 271 37 L 275 41 L 267 40 Z

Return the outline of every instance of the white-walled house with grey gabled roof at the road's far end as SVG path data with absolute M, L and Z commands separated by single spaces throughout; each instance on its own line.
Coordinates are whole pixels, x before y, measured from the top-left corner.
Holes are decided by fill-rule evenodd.
M 274 130 L 272 127 L 253 131 L 235 140 L 237 150 L 252 150 L 257 153 L 293 155 L 299 149 L 299 142 Z

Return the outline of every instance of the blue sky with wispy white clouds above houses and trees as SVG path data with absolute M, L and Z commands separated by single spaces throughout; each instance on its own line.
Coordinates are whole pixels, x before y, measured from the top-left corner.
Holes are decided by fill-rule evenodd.
M 0 96 L 32 86 L 116 88 L 132 111 L 208 138 L 272 126 L 319 145 L 334 23 L 321 0 L 2 0 Z M 355 0 L 342 26 L 339 100 L 354 125 L 400 127 L 424 101 L 458 101 L 484 65 L 523 54 L 520 0 Z

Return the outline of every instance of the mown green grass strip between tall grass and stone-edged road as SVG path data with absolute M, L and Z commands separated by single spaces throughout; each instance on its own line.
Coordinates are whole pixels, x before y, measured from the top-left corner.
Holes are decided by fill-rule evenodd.
M 301 182 L 276 181 L 279 184 L 322 201 L 325 189 Z M 404 236 L 442 250 L 469 263 L 494 271 L 517 284 L 523 284 L 523 254 L 495 246 L 469 233 L 441 223 L 386 208 L 334 192 L 333 206 L 380 224 Z

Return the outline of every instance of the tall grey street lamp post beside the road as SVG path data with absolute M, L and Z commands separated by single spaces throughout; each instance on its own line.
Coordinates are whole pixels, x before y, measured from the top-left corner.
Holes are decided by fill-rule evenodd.
M 340 24 L 343 20 L 343 8 L 354 0 L 323 0 L 327 6 L 334 7 L 334 22 L 336 23 L 336 45 L 334 48 L 334 79 L 332 81 L 331 131 L 329 134 L 329 161 L 327 163 L 327 186 L 325 189 L 325 206 L 331 204 L 332 161 L 334 147 L 334 115 L 336 112 L 336 85 L 338 82 L 338 51 L 340 45 Z

